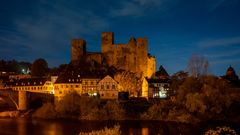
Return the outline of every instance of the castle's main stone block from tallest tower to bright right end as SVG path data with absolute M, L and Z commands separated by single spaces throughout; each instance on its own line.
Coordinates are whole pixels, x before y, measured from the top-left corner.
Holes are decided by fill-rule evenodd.
M 102 53 L 110 66 L 151 77 L 155 69 L 155 59 L 148 60 L 148 41 L 146 38 L 131 37 L 127 44 L 113 44 L 111 32 L 102 33 Z M 150 64 L 150 65 L 149 65 Z M 151 69 L 148 69 L 148 68 Z

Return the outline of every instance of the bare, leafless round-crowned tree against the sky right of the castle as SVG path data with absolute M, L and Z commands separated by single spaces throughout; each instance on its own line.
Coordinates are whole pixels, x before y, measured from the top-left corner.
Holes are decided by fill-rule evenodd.
M 201 55 L 193 55 L 188 62 L 188 71 L 194 77 L 206 75 L 208 73 L 208 60 Z

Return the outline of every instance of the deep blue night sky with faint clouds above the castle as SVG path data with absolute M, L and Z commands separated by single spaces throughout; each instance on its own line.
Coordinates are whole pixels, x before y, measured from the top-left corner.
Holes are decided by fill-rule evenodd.
M 212 74 L 229 65 L 240 73 L 240 0 L 1 0 L 0 18 L 0 59 L 59 66 L 70 62 L 71 39 L 99 52 L 101 32 L 111 31 L 116 44 L 148 38 L 157 69 L 170 74 L 192 55 L 206 57 Z

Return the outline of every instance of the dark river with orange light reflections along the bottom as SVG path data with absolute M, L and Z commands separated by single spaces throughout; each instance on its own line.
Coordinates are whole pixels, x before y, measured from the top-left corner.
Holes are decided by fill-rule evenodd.
M 120 125 L 123 135 L 200 135 L 209 128 L 227 126 L 224 123 L 190 125 L 161 121 L 100 122 L 1 118 L 0 135 L 78 135 L 79 132 L 100 130 L 116 124 Z M 233 125 L 232 128 L 239 131 L 238 125 Z

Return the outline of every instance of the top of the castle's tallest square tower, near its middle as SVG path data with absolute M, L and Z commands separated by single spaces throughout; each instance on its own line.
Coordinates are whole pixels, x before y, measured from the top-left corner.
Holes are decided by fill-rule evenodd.
M 107 53 L 112 50 L 114 45 L 114 35 L 113 32 L 102 32 L 102 53 Z

